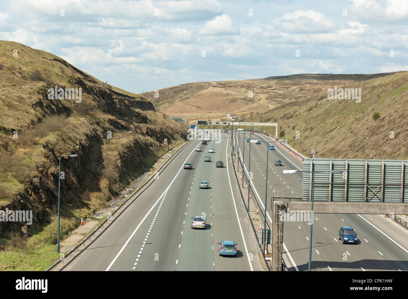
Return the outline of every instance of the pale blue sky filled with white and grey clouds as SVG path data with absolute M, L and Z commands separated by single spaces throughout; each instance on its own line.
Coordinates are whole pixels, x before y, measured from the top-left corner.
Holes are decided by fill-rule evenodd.
M 196 81 L 408 70 L 408 0 L 13 0 L 0 39 L 141 93 Z

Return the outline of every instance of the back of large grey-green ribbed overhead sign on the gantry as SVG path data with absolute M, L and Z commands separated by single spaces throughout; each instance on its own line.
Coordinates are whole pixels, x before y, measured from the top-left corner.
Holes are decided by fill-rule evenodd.
M 303 161 L 303 200 L 408 203 L 408 160 L 309 159 Z M 329 172 L 341 170 L 342 174 Z

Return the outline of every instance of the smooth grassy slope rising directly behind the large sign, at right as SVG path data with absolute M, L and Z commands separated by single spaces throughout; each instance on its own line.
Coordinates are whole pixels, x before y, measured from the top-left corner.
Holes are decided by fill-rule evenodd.
M 361 88 L 361 103 L 329 100 L 326 89 L 248 121 L 277 122 L 279 134 L 309 157 L 315 147 L 324 158 L 408 159 L 408 72 L 345 87 Z

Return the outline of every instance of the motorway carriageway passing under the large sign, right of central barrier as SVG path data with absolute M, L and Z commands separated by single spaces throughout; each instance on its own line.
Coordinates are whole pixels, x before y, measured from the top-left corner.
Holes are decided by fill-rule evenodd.
M 234 132 L 235 134 L 235 132 Z M 302 170 L 302 162 L 275 142 L 275 150 L 267 150 L 266 135 L 249 132 L 239 137 L 240 157 L 248 173 L 251 144 L 252 186 L 260 202 L 264 202 L 266 155 L 268 158 L 268 199 L 271 196 L 302 197 L 302 172 L 283 174 L 283 169 Z M 243 153 L 245 151 L 245 153 Z M 283 166 L 275 166 L 280 159 Z M 263 204 L 262 204 L 263 205 Z M 270 214 L 270 212 L 268 212 Z M 376 214 L 315 214 L 313 223 L 312 271 L 408 271 L 408 233 L 397 223 Z M 268 219 L 271 222 L 271 219 Z M 310 225 L 305 221 L 284 223 L 284 259 L 290 271 L 307 271 Z M 358 234 L 358 244 L 342 244 L 338 239 L 341 226 L 351 226 Z

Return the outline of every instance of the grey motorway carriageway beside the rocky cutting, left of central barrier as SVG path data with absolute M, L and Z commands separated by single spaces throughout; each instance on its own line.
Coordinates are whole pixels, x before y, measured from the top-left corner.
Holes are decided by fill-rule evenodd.
M 211 132 L 210 132 L 211 133 Z M 206 137 L 206 136 L 204 136 Z M 215 140 L 216 139 L 216 140 Z M 262 256 L 236 186 L 231 137 L 194 140 L 126 210 L 63 271 L 264 271 Z M 201 152 L 195 151 L 201 146 Z M 215 153 L 208 153 L 208 148 Z M 211 162 L 204 162 L 211 156 Z M 215 162 L 222 160 L 223 168 Z M 193 169 L 184 169 L 184 163 Z M 209 189 L 200 189 L 200 181 Z M 191 218 L 205 215 L 206 228 Z M 218 242 L 237 243 L 237 257 L 218 254 Z

